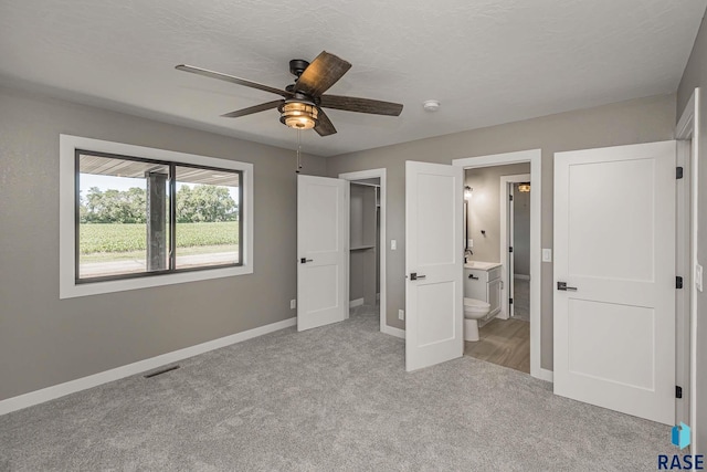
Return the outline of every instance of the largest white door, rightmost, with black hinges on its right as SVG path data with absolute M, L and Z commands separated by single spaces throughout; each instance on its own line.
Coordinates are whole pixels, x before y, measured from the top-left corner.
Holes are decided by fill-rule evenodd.
M 675 148 L 555 155 L 555 392 L 667 424 L 675 422 Z

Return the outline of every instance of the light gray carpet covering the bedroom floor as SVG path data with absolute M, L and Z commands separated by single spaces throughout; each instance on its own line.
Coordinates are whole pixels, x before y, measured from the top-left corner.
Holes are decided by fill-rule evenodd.
M 357 314 L 0 417 L 2 471 L 655 470 L 669 428 L 468 356 L 404 371 Z

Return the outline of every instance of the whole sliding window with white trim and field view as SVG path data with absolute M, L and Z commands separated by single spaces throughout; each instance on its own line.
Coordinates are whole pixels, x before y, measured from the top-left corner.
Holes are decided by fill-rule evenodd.
M 61 159 L 62 298 L 253 272 L 252 165 L 66 135 Z

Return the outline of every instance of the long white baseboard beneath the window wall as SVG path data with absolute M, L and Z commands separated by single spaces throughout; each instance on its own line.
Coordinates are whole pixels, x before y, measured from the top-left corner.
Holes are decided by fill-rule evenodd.
M 254 337 L 263 336 L 268 333 L 295 326 L 296 324 L 296 317 L 283 319 L 282 322 L 260 326 L 257 328 L 249 329 L 242 333 L 236 333 L 230 336 L 221 337 L 219 339 L 209 340 L 196 346 L 186 347 L 183 349 L 173 350 L 171 353 L 162 354 L 149 359 L 138 360 L 137 363 L 128 364 L 126 366 L 120 366 L 110 370 L 105 370 L 103 373 L 82 377 L 76 380 L 71 380 L 64 384 L 43 388 L 41 390 L 35 390 L 29 394 L 8 398 L 0 401 L 0 416 L 28 408 L 33 405 L 43 403 L 55 398 L 64 397 L 70 394 L 75 394 L 76 391 L 97 387 L 113 380 L 118 380 L 147 370 L 152 370 L 166 364 L 187 359 L 189 357 L 219 349 L 221 347 L 230 346 L 232 344 L 242 343 Z

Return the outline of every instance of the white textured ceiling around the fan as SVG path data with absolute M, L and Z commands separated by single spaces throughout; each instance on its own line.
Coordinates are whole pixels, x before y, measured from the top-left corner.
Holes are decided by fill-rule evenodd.
M 294 148 L 277 96 L 178 72 L 187 63 L 284 87 L 291 59 L 354 67 L 329 92 L 400 117 L 327 111 L 337 155 L 677 88 L 707 0 L 1 0 L 0 83 Z M 422 102 L 439 99 L 436 113 Z M 1 112 L 0 112 L 1 113 Z

